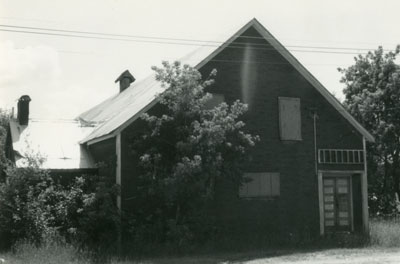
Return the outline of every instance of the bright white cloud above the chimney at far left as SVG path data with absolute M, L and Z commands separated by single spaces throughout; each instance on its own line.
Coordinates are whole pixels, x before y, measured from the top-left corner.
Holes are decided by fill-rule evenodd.
M 33 98 L 51 96 L 61 76 L 58 52 L 48 46 L 17 48 L 11 41 L 0 42 L 0 108 L 11 108 L 24 94 Z M 41 102 L 45 102 L 40 100 Z M 43 103 L 32 104 L 34 116 L 44 114 Z

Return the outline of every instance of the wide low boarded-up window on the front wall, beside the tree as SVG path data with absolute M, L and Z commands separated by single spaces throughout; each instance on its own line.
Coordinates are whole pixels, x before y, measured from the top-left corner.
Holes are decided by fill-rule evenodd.
M 243 198 L 276 197 L 280 195 L 280 177 L 277 172 L 245 173 L 250 182 L 244 183 L 239 189 Z

